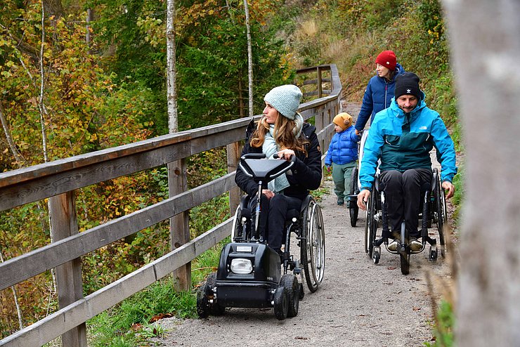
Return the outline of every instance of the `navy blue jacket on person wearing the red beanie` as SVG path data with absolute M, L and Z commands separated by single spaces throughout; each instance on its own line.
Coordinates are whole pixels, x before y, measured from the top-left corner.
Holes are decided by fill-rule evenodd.
M 396 73 L 391 81 L 377 76 L 377 74 L 368 81 L 365 95 L 363 96 L 363 104 L 358 114 L 356 121 L 356 130 L 362 131 L 368 122 L 370 116 L 370 124 L 374 122 L 375 114 L 386 107 L 390 106 L 391 99 L 394 98 L 394 89 L 396 87 L 396 77 L 398 74 L 403 74 L 405 69 L 399 64 L 396 64 Z

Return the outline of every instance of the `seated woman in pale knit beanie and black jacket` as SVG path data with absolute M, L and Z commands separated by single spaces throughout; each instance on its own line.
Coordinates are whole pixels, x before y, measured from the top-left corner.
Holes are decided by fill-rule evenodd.
M 272 158 L 276 153 L 285 160 L 290 160 L 292 155 L 297 157 L 290 171 L 262 190 L 261 209 L 268 214 L 261 214 L 260 233 L 280 256 L 283 256 L 280 248 L 287 211 L 299 210 L 309 190 L 317 189 L 321 183 L 321 152 L 316 127 L 305 123 L 297 112 L 300 99 L 300 89 L 292 84 L 271 89 L 264 97 L 266 107 L 261 119 L 256 124 L 252 121 L 247 127 L 242 150 L 242 155 L 264 153 Z M 248 195 L 253 196 L 257 190 L 256 183 L 240 168 L 235 182 Z

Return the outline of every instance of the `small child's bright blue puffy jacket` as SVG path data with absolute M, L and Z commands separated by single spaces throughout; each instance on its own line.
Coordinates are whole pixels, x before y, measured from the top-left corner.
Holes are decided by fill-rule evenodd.
M 329 150 L 325 157 L 325 165 L 348 164 L 358 159 L 358 141 L 354 126 L 349 126 L 341 133 L 334 133 L 330 140 Z

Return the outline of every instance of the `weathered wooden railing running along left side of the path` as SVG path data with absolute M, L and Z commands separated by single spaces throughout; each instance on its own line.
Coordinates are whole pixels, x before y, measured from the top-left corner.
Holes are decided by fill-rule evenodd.
M 330 125 L 332 118 L 340 109 L 342 86 L 335 65 L 320 65 L 298 73 L 310 72 L 316 72 L 316 81 L 325 81 L 330 90 L 327 90 L 328 96 L 302 103 L 299 112 L 304 119 L 314 117 L 318 139 L 325 152 L 334 131 Z M 329 77 L 323 77 L 324 72 Z M 322 96 L 322 83 L 316 89 Z M 55 313 L 0 340 L 0 346 L 41 346 L 58 336 L 62 336 L 63 346 L 86 346 L 86 320 L 186 266 L 230 235 L 231 220 L 228 219 L 195 240 L 185 244 L 172 242 L 172 251 L 168 254 L 83 296 L 81 257 L 85 254 L 186 213 L 226 192 L 230 192 L 230 211 L 235 210 L 240 191 L 235 185 L 234 175 L 240 143 L 250 120 L 237 119 L 0 174 L 0 211 L 49 198 L 54 237 L 51 244 L 1 263 L 0 290 L 55 269 L 59 303 Z M 226 176 L 78 233 L 74 190 L 179 162 L 224 145 L 228 150 L 229 173 Z M 186 172 L 180 174 L 186 175 Z M 175 232 L 185 234 L 186 230 Z

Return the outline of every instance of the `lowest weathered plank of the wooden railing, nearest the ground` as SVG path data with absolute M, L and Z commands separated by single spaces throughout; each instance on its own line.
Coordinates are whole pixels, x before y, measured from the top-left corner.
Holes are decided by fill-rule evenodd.
M 171 273 L 172 270 L 182 266 L 186 261 L 190 261 L 214 247 L 230 235 L 231 224 L 232 219 L 229 218 L 175 251 L 171 251 L 169 254 L 143 266 L 143 268 L 86 296 L 84 299 L 76 301 L 43 320 L 39 320 L 39 322 L 0 340 L 0 346 L 36 347 L 56 339 L 56 337 L 82 322 L 86 322 L 86 320 L 145 289 L 153 282 Z

